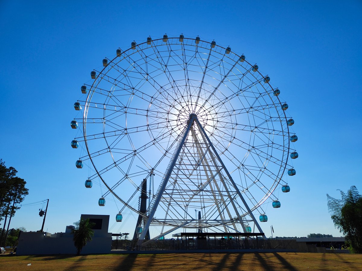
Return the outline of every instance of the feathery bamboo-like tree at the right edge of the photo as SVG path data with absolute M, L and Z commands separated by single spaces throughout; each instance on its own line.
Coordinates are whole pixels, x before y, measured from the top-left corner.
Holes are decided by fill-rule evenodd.
M 345 235 L 352 252 L 362 253 L 362 196 L 354 185 L 347 193 L 339 191 L 341 199 L 327 194 L 328 211 L 334 225 Z

